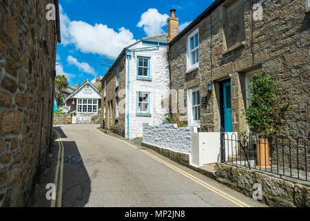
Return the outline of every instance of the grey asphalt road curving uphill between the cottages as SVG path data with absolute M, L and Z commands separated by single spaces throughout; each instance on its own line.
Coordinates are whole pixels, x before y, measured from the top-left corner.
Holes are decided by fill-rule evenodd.
M 95 127 L 99 126 L 54 128 L 61 139 L 54 142 L 50 167 L 37 188 L 36 206 L 265 206 L 152 150 L 104 135 Z M 45 197 L 49 183 L 56 184 L 56 200 L 52 202 Z

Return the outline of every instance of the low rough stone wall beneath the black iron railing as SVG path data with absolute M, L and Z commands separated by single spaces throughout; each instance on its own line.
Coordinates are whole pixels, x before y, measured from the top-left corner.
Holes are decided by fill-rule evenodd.
M 269 206 L 310 206 L 310 183 L 290 178 L 280 179 L 278 175 L 270 175 L 261 171 L 254 171 L 232 166 L 216 164 L 216 180 L 231 189 L 235 189 L 250 198 L 253 197 L 254 184 L 262 185 L 262 201 Z

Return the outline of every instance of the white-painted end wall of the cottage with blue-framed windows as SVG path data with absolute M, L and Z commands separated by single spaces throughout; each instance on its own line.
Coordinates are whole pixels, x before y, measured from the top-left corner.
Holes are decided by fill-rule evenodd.
M 140 42 L 132 48 L 154 46 Z M 130 49 L 132 49 L 130 48 Z M 137 79 L 137 57 L 150 57 L 150 76 L 152 81 Z M 126 58 L 126 73 L 128 60 Z M 126 90 L 127 90 L 126 74 Z M 136 93 L 138 91 L 150 93 L 150 114 L 152 117 L 136 116 Z M 143 136 L 143 123 L 150 125 L 163 124 L 168 108 L 162 107 L 162 100 L 169 97 L 169 66 L 167 61 L 167 46 L 138 50 L 132 52 L 130 58 L 130 139 Z M 127 137 L 127 98 L 126 98 L 125 137 Z

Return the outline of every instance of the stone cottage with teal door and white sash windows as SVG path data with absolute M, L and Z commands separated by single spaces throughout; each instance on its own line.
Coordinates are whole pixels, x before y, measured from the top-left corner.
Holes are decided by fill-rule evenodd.
M 218 0 L 169 42 L 172 90 L 185 122 L 201 132 L 248 131 L 255 73 L 272 73 L 290 101 L 282 135 L 309 137 L 309 9 L 307 1 Z

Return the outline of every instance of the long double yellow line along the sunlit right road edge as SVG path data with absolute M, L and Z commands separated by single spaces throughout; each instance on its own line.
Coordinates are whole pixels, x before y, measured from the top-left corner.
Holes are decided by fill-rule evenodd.
M 107 135 L 107 134 L 103 133 L 102 131 L 99 131 L 97 128 L 94 128 L 94 129 L 96 131 L 98 131 L 99 133 L 102 133 L 103 135 L 107 136 L 107 137 L 112 137 L 110 135 Z M 234 204 L 236 204 L 236 205 L 238 205 L 240 207 L 251 207 L 248 204 L 246 204 L 245 202 L 242 202 L 242 201 L 234 198 L 233 196 L 231 196 L 231 195 L 221 191 L 220 189 L 217 189 L 216 187 L 211 186 L 210 184 L 207 184 L 206 182 L 203 182 L 202 180 L 200 180 L 197 177 L 194 177 L 193 175 L 191 175 L 191 174 L 189 174 L 189 173 L 179 169 L 178 167 L 173 166 L 172 164 L 169 164 L 168 162 L 165 162 L 164 160 L 161 160 L 160 158 L 156 157 L 152 153 L 149 153 L 149 152 L 147 152 L 147 151 L 145 151 L 143 149 L 137 148 L 136 146 L 134 146 L 134 145 L 132 145 L 132 144 L 130 144 L 128 142 L 125 142 L 125 141 L 123 141 L 121 139 L 118 139 L 116 137 L 112 137 L 112 138 L 114 138 L 116 140 L 119 140 L 119 141 L 123 142 L 124 144 L 127 144 L 127 145 L 131 146 L 132 148 L 135 148 L 138 151 L 142 151 L 143 153 L 149 155 L 149 157 L 152 157 L 154 160 L 156 160 L 158 162 L 161 162 L 161 164 L 164 164 L 165 166 L 168 166 L 170 169 L 173 169 L 174 171 L 184 175 L 185 177 L 189 178 L 190 180 L 196 182 L 197 184 L 200 184 L 201 186 L 204 186 L 205 188 L 209 189 L 209 191 L 212 191 L 212 192 L 220 195 L 221 197 L 229 200 L 230 202 L 233 202 Z

